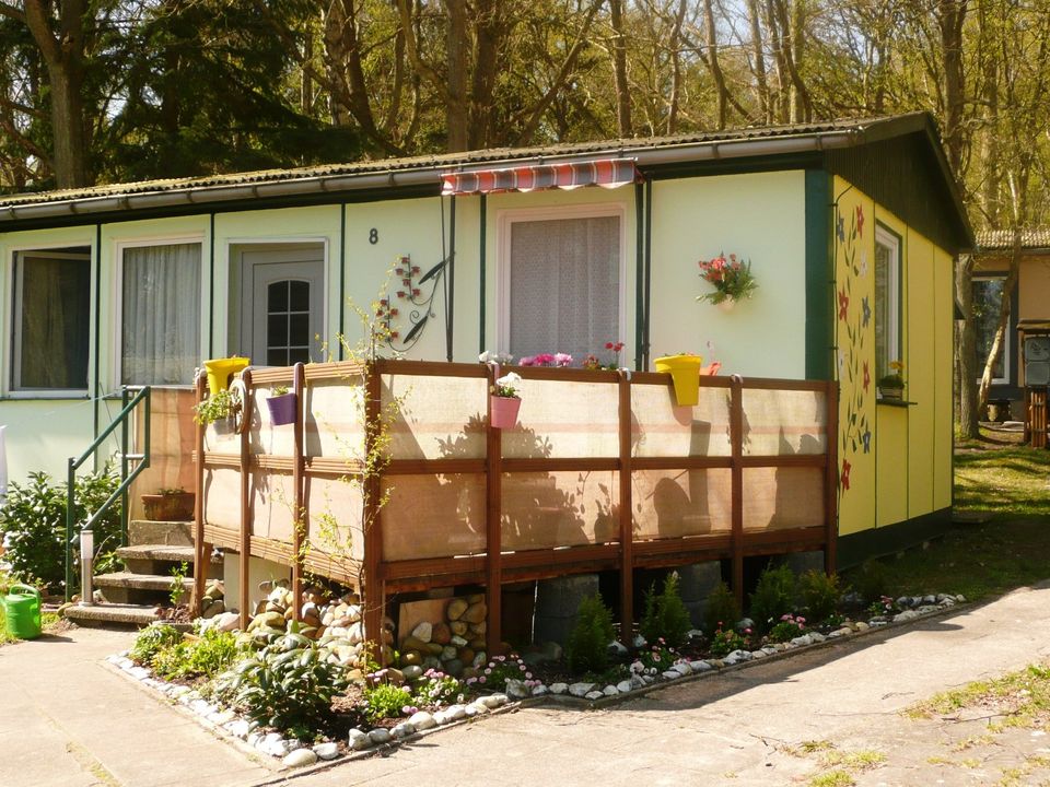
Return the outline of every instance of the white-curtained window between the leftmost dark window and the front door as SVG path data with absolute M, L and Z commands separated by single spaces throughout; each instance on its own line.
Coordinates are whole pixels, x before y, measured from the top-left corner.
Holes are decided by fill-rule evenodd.
M 120 381 L 190 385 L 200 364 L 200 244 L 122 255 Z

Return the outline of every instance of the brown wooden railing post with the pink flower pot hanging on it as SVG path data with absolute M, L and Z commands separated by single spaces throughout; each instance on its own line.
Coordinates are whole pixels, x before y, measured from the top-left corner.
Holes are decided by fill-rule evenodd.
M 489 365 L 489 390 L 500 374 L 498 364 Z M 503 639 L 503 434 L 492 425 L 492 397 L 486 401 L 486 472 L 485 472 L 485 567 L 488 623 L 486 647 L 494 656 Z

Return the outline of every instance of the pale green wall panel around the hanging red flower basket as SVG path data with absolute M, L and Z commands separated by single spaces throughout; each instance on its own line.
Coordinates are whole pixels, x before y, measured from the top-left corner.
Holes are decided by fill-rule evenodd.
M 730 312 L 696 301 L 711 291 L 697 262 L 723 251 L 750 259 L 758 280 Z M 655 183 L 652 356 L 696 352 L 723 374 L 805 377 L 805 252 L 802 171 Z

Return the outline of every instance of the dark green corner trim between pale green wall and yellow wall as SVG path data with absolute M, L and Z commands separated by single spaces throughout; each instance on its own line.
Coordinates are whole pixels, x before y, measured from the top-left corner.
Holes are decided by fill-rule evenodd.
M 806 169 L 806 377 L 831 379 L 835 317 L 832 176 Z

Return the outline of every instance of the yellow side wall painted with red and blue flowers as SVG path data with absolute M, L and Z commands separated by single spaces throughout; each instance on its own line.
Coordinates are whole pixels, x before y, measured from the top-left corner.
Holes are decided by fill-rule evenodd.
M 836 178 L 835 193 L 836 219 L 841 221 L 835 244 L 839 531 L 849 535 L 952 503 L 953 260 L 841 178 Z M 876 400 L 876 224 L 901 237 L 901 360 L 908 407 Z M 865 298 L 872 308 L 867 319 Z

